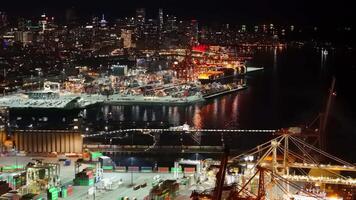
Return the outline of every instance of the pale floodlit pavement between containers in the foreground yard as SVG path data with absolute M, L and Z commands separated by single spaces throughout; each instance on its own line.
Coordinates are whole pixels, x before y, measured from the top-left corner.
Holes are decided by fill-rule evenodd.
M 42 158 L 43 162 L 58 162 L 57 157 L 34 157 L 34 158 Z M 60 166 L 60 179 L 63 184 L 72 184 L 74 178 L 74 161 L 77 158 L 72 158 L 72 164 L 70 166 L 63 166 L 63 163 Z M 28 162 L 34 162 L 32 157 L 23 156 L 23 157 L 0 157 L 1 165 L 14 165 L 17 163 L 18 165 L 26 165 Z M 5 174 L 5 173 L 4 173 Z M 174 179 L 173 173 L 144 173 L 137 172 L 132 173 L 133 184 L 143 184 L 147 183 L 147 186 L 144 188 L 140 188 L 138 190 L 133 190 L 131 185 L 131 172 L 120 173 L 120 172 L 105 172 L 104 179 L 113 179 L 113 180 L 122 180 L 122 184 L 119 185 L 117 189 L 114 190 L 105 190 L 99 189 L 100 182 L 96 185 L 98 186 L 96 190 L 95 199 L 96 200 L 118 200 L 121 197 L 129 197 L 130 200 L 133 198 L 137 198 L 137 200 L 143 200 L 146 196 L 149 195 L 150 189 L 152 188 L 153 177 L 159 175 L 162 180 L 166 179 Z M 180 176 L 183 176 L 182 174 Z M 207 185 L 206 187 L 208 187 Z M 88 194 L 88 189 L 90 186 L 73 186 L 73 194 L 65 198 L 66 200 L 87 200 L 94 199 L 93 195 Z M 177 199 L 188 199 L 189 194 L 192 192 L 191 187 L 182 187 L 180 186 L 180 195 Z M 61 198 L 59 198 L 61 199 Z

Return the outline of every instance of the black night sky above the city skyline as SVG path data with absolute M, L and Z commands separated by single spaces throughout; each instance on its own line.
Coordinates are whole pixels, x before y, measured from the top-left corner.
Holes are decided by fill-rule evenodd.
M 157 9 L 202 22 L 350 24 L 356 18 L 351 0 L 17 0 L 1 3 L 10 16 L 37 16 L 42 12 L 64 17 L 75 7 L 82 17 L 105 13 L 109 19 L 134 15 L 145 7 L 150 17 Z

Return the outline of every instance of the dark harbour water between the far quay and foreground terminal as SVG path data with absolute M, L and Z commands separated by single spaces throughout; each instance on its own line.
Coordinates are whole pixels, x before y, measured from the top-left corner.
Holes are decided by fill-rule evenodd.
M 356 66 L 352 50 L 329 49 L 322 55 L 314 48 L 258 49 L 249 66 L 264 67 L 247 76 L 248 89 L 188 106 L 100 106 L 85 111 L 86 126 L 150 123 L 152 126 L 182 125 L 196 128 L 280 129 L 309 124 L 324 109 L 331 77 L 336 77 L 337 96 L 328 123 L 327 149 L 345 160 L 356 162 Z M 23 112 L 16 112 L 23 114 Z M 52 115 L 52 114 L 51 114 Z M 73 113 L 63 114 L 65 116 Z M 74 114 L 76 115 L 76 114 Z M 55 117 L 61 118 L 59 113 Z M 53 117 L 53 118 L 55 118 Z M 49 117 L 50 118 L 50 117 Z M 69 117 L 70 118 L 70 117 Z M 163 125 L 162 125 L 163 126 Z M 228 145 L 247 150 L 269 136 L 252 135 L 226 138 Z M 162 144 L 179 143 L 179 137 L 162 138 Z M 149 138 L 148 138 L 149 140 Z M 188 139 L 186 140 L 189 143 Z M 220 136 L 203 136 L 203 144 L 221 145 Z M 121 143 L 114 140 L 113 143 Z M 202 144 L 202 145 L 203 145 Z M 160 156 L 162 160 L 172 159 Z M 196 155 L 184 155 L 195 158 Z M 208 157 L 209 155 L 198 155 Z M 116 155 L 127 164 L 130 155 Z M 141 165 L 152 165 L 156 156 L 135 155 Z

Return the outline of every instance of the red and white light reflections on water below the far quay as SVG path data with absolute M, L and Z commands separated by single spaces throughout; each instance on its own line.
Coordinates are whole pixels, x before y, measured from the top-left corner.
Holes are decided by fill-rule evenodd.
M 243 92 L 242 92 L 243 93 Z M 188 123 L 196 128 L 237 128 L 239 124 L 239 94 L 221 96 L 205 103 L 187 106 L 116 105 L 103 106 L 102 112 L 89 110 L 91 116 L 113 123 L 122 121 L 168 122 L 172 126 Z

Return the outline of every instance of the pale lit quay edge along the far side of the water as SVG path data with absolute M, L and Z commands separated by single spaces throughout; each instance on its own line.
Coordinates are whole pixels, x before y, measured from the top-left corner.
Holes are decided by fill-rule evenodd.
M 250 67 L 247 73 L 261 71 L 263 68 Z M 210 94 L 196 94 L 188 97 L 158 97 L 158 96 L 127 96 L 113 94 L 109 96 L 101 94 L 64 94 L 53 99 L 29 99 L 24 94 L 17 93 L 0 97 L 0 107 L 14 109 L 83 109 L 98 104 L 103 105 L 190 105 L 205 102 L 214 97 L 238 92 L 247 89 L 247 85 L 240 85 L 237 88 L 222 90 Z

